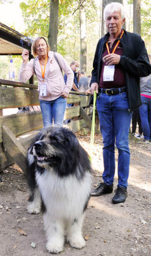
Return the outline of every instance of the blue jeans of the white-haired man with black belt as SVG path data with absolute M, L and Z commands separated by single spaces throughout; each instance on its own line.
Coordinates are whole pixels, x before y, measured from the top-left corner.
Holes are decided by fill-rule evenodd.
M 113 184 L 115 175 L 115 143 L 119 150 L 118 186 L 127 188 L 129 177 L 129 127 L 132 113 L 128 111 L 126 92 L 117 95 L 99 93 L 97 112 L 103 136 L 104 183 Z

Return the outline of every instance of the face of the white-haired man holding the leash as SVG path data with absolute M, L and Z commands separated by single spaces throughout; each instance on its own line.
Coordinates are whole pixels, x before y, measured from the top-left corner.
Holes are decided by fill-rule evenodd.
M 125 19 L 122 20 L 120 12 L 107 13 L 106 15 L 105 24 L 110 35 L 119 36 L 124 22 Z

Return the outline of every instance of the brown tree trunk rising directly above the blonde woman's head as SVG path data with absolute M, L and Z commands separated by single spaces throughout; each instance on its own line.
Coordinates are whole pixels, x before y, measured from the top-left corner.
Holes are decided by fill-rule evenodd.
M 59 17 L 59 0 L 50 0 L 48 44 L 50 45 L 50 49 L 54 52 L 57 51 L 58 17 Z

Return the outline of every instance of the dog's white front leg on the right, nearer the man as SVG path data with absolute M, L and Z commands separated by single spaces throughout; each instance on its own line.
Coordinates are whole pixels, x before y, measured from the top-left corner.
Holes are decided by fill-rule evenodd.
M 82 224 L 84 215 L 78 219 L 75 218 L 73 222 L 68 223 L 67 229 L 67 241 L 71 244 L 72 247 L 82 249 L 85 246 L 85 240 L 82 236 Z

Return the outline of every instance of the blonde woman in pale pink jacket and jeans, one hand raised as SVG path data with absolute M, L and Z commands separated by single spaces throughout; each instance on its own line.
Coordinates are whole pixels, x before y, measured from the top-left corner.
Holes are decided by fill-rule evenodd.
M 66 111 L 66 98 L 73 86 L 73 71 L 61 54 L 50 51 L 47 40 L 40 36 L 32 42 L 31 53 L 36 59 L 29 59 L 29 52 L 22 52 L 22 66 L 19 81 L 25 83 L 34 73 L 38 79 L 40 108 L 44 127 L 63 124 Z M 56 59 L 57 58 L 57 61 Z M 64 83 L 62 70 L 67 75 Z

